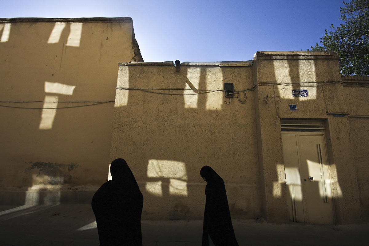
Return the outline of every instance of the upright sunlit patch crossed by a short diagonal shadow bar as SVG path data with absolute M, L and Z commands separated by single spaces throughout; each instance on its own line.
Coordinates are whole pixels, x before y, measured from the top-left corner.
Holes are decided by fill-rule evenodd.
M 196 88 L 199 88 L 200 84 L 200 67 L 190 67 L 187 69 L 187 79 L 189 82 L 186 83 L 185 91 L 183 94 L 197 93 Z M 190 91 L 189 89 L 192 89 Z M 199 95 L 187 95 L 184 96 L 184 108 L 197 108 L 197 101 L 199 100 Z

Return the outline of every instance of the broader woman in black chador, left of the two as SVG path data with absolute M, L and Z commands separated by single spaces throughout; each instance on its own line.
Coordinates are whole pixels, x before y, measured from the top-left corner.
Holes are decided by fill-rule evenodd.
M 92 198 L 100 246 L 142 246 L 141 213 L 144 198 L 124 159 L 111 162 L 112 180 Z

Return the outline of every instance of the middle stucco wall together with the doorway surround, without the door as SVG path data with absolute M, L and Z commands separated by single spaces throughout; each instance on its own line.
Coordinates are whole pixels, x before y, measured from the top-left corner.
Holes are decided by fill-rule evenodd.
M 221 91 L 183 95 L 221 90 L 224 82 L 246 89 L 248 100 L 227 104 Z M 360 221 L 349 119 L 330 114 L 348 111 L 336 53 L 257 52 L 254 61 L 186 62 L 178 72 L 171 62 L 123 63 L 117 87 L 110 161 L 123 157 L 131 166 L 144 194 L 143 218 L 201 219 L 199 170 L 210 165 L 226 183 L 232 218 L 289 221 L 280 120 L 318 119 L 335 221 Z M 293 97 L 292 89 L 309 95 Z

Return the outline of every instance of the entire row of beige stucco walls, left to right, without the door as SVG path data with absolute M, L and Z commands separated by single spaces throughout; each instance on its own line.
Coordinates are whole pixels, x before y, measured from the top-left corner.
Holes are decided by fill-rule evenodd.
M 336 53 L 257 52 L 179 71 L 172 62 L 118 66 L 142 61 L 130 18 L 0 21 L 5 203 L 89 202 L 108 164 L 124 158 L 144 219 L 201 219 L 199 172 L 209 165 L 224 179 L 232 218 L 287 222 L 280 122 L 304 119 L 325 123 L 335 221 L 356 223 L 368 210 L 366 118 L 330 114 L 366 115 L 354 106 L 366 94 L 342 87 Z M 224 98 L 225 82 L 247 100 Z

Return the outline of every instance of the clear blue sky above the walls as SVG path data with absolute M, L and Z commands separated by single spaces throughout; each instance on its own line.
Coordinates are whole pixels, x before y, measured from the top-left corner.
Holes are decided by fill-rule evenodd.
M 349 1 L 349 0 L 348 0 Z M 0 0 L 0 18 L 131 17 L 145 61 L 251 60 L 306 50 L 342 23 L 342 0 Z

